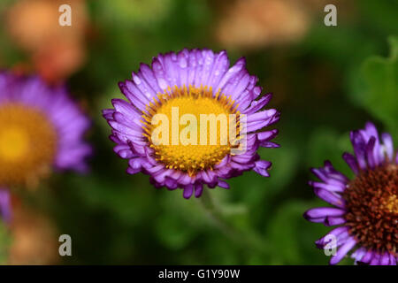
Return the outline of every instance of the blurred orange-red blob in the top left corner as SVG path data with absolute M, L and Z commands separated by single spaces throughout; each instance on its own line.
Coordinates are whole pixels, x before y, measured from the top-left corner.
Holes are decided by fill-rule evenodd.
M 59 25 L 62 4 L 71 6 L 72 26 Z M 88 13 L 83 0 L 22 0 L 7 11 L 5 26 L 50 83 L 65 80 L 84 62 Z

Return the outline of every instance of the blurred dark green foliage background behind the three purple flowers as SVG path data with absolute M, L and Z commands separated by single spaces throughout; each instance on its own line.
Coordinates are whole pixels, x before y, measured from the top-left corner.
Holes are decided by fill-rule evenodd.
M 65 81 L 93 120 L 88 141 L 95 155 L 86 175 L 55 173 L 34 192 L 15 192 L 21 205 L 40 212 L 57 231 L 45 241 L 40 229 L 46 227 L 21 228 L 24 235 L 36 233 L 35 241 L 54 241 L 57 249 L 58 235 L 70 234 L 73 256 L 47 261 L 32 252 L 29 245 L 37 242 L 24 240 L 12 263 L 327 264 L 314 241 L 329 228 L 302 218 L 305 210 L 325 205 L 307 185 L 314 179 L 309 169 L 329 159 L 350 176 L 341 155 L 352 150 L 349 131 L 367 120 L 390 131 L 397 144 L 398 1 L 65 0 L 59 2 L 80 5 L 83 24 L 64 27 L 72 35 L 43 31 L 46 13 L 34 14 L 33 29 L 24 35 L 27 18 L 20 23 L 9 14 L 20 3 L 27 11 L 19 12 L 29 14 L 27 2 L 34 1 L 49 2 L 2 0 L 0 67 Z M 337 27 L 325 27 L 325 4 L 336 5 Z M 36 22 L 44 22 L 37 31 Z M 42 51 L 41 31 L 42 37 L 62 34 L 71 48 L 62 50 L 54 40 L 53 50 Z M 260 150 L 272 161 L 271 177 L 246 172 L 229 181 L 230 190 L 210 190 L 211 205 L 185 200 L 180 190 L 155 189 L 146 175 L 127 175 L 101 116 L 111 98 L 122 97 L 118 82 L 130 79 L 141 62 L 159 52 L 205 47 L 227 50 L 231 62 L 246 57 L 249 73 L 274 95 L 268 106 L 282 113 L 275 125 L 281 148 Z M 57 60 L 42 59 L 68 50 L 77 51 L 66 63 L 49 66 Z M 51 77 L 54 68 L 57 77 Z M 10 263 L 19 238 L 0 228 L 3 263 Z

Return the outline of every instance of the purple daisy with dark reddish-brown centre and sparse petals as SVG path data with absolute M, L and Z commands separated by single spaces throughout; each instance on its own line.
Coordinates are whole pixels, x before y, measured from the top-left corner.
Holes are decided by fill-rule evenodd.
M 343 158 L 355 173 L 349 180 L 333 165 L 311 171 L 321 181 L 310 181 L 319 198 L 334 207 L 308 210 L 304 218 L 338 226 L 316 241 L 319 249 L 337 249 L 330 264 L 338 264 L 350 250 L 359 264 L 396 265 L 398 260 L 398 154 L 390 134 L 379 133 L 368 122 L 350 133 L 355 155 Z

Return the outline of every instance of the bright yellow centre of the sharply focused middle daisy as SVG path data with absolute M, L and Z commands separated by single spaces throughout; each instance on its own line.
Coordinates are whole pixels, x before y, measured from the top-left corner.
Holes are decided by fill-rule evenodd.
M 211 88 L 169 89 L 147 105 L 142 115 L 144 136 L 158 162 L 192 176 L 212 169 L 236 147 L 240 132 L 236 108 L 230 97 L 219 92 L 213 96 Z M 234 134 L 229 133 L 232 126 Z

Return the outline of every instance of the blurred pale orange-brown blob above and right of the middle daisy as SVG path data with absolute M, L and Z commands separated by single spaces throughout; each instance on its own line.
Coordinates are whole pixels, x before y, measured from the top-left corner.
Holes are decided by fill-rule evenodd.
M 227 47 L 256 49 L 295 42 L 309 26 L 309 14 L 296 1 L 237 0 L 226 7 L 216 37 Z

